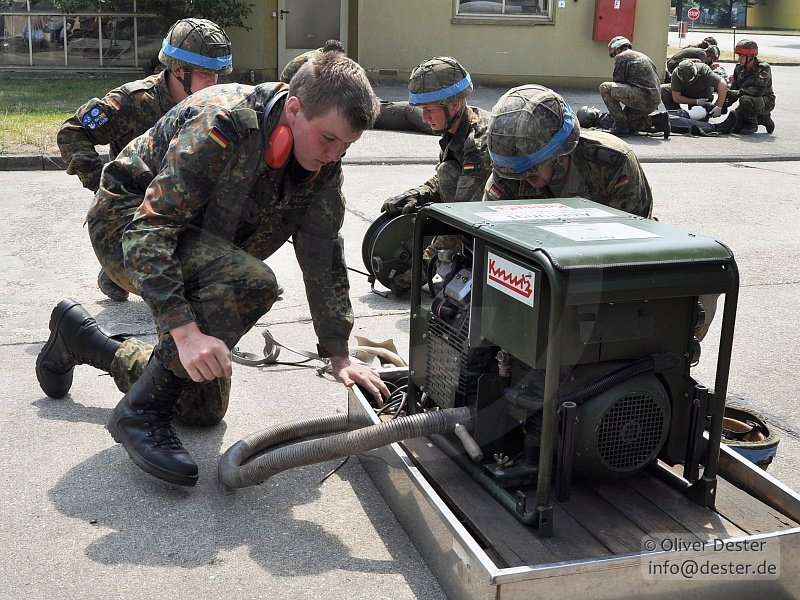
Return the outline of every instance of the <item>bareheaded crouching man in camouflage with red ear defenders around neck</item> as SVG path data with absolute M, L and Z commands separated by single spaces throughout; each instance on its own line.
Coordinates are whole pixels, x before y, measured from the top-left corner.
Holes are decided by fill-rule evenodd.
M 36 361 L 44 392 L 66 395 L 77 364 L 110 372 L 125 392 L 107 424 L 114 440 L 147 473 L 194 485 L 197 465 L 171 422 L 224 416 L 231 348 L 277 298 L 263 261 L 292 238 L 320 356 L 338 381 L 380 403 L 386 385 L 348 356 L 353 313 L 339 235 L 341 157 L 377 112 L 364 70 L 326 53 L 289 86 L 192 94 L 128 144 L 103 170 L 87 223 L 105 271 L 150 308 L 158 343 L 148 360 L 141 343 L 107 336 L 63 300 Z

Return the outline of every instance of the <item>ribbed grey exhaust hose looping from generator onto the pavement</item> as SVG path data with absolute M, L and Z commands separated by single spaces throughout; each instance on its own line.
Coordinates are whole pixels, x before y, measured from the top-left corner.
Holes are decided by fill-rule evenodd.
M 236 442 L 222 455 L 218 474 L 229 487 L 257 485 L 287 469 L 344 458 L 402 440 L 452 433 L 458 425 L 471 429 L 475 414 L 474 407 L 448 408 L 399 417 L 353 431 L 347 431 L 353 423 L 346 414 L 290 421 Z M 294 441 L 327 434 L 335 435 Z M 291 443 L 270 449 L 287 442 Z

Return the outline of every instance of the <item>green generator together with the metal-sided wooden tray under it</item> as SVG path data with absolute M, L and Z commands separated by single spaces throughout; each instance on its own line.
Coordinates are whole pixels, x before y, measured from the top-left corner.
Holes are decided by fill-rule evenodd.
M 440 282 L 421 259 L 435 236 L 462 240 L 439 253 Z M 571 198 L 424 207 L 413 246 L 409 367 L 382 377 L 408 386 L 409 413 L 476 417 L 466 436 L 359 459 L 450 597 L 794 597 L 800 496 L 720 443 L 738 297 L 725 245 Z M 715 295 L 707 388 L 690 369 L 698 298 Z M 380 422 L 357 387 L 349 418 Z M 641 536 L 664 522 L 718 562 L 736 555 L 712 538 L 774 542 L 780 577 L 643 577 Z

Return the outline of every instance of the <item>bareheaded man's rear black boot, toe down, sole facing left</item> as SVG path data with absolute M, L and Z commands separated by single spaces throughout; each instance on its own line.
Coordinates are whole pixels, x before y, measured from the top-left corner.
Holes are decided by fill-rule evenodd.
M 75 300 L 62 300 L 50 315 L 50 337 L 36 357 L 36 378 L 42 391 L 51 398 L 66 396 L 75 365 L 87 364 L 110 372 L 121 344 L 121 338 L 100 329 Z

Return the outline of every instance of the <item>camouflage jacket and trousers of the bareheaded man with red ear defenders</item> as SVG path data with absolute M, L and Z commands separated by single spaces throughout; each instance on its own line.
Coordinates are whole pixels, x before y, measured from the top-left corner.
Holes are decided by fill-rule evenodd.
M 192 94 L 106 166 L 89 210 L 101 265 L 145 300 L 159 334 L 154 355 L 180 376 L 185 370 L 168 332 L 196 321 L 232 348 L 277 298 L 277 281 L 263 261 L 290 237 L 320 353 L 347 354 L 353 317 L 339 236 L 341 162 L 317 174 L 293 158 L 279 169 L 265 165 L 260 120 L 285 90 L 285 84 L 229 84 Z M 284 101 L 272 109 L 266 137 Z M 122 350 L 112 372 L 124 386 L 135 379 L 147 347 L 128 340 Z M 193 384 L 179 411 L 189 407 L 198 418 L 218 421 L 226 386 Z

